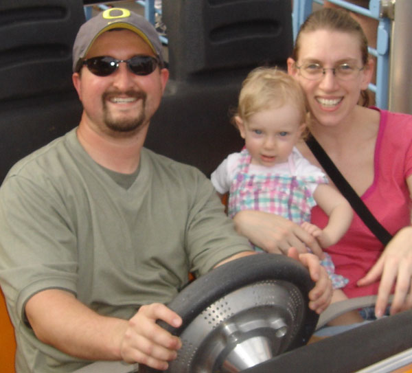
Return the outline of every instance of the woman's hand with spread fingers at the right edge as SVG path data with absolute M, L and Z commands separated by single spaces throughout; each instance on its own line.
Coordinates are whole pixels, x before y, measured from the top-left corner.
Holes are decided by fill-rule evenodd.
M 395 286 L 391 305 L 391 315 L 412 308 L 412 227 L 404 227 L 389 242 L 374 267 L 358 281 L 365 286 L 378 281 L 378 299 L 375 313 L 381 317 L 385 313 L 389 295 Z

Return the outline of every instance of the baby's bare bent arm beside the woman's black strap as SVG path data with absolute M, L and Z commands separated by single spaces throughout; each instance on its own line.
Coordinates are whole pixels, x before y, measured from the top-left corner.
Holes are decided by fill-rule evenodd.
M 350 227 L 353 210 L 349 202 L 328 184 L 319 185 L 313 194 L 319 207 L 329 216 L 328 225 L 317 236 L 321 247 L 329 247 L 338 242 Z

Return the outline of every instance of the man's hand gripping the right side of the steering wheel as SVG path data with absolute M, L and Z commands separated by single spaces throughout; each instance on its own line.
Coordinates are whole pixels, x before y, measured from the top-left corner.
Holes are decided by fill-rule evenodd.
M 294 247 L 291 247 L 288 256 L 299 260 L 308 268 L 310 278 L 315 282 L 314 288 L 309 292 L 309 308 L 320 315 L 332 300 L 332 282 L 329 280 L 328 273 L 321 266 L 319 258 L 311 253 L 299 254 Z

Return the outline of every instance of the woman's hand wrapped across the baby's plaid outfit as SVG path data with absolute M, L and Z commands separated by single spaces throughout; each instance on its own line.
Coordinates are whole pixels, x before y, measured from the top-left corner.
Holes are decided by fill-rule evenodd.
M 253 210 L 238 212 L 233 218 L 237 231 L 249 238 L 255 246 L 268 253 L 287 254 L 290 247 L 299 253 L 307 253 L 309 248 L 323 259 L 323 251 L 316 238 L 299 225 L 282 216 Z

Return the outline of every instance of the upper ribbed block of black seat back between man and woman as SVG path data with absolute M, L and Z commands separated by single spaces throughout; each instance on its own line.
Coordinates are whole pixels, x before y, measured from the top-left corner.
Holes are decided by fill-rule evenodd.
M 293 45 L 290 1 L 163 1 L 172 79 L 284 65 Z

